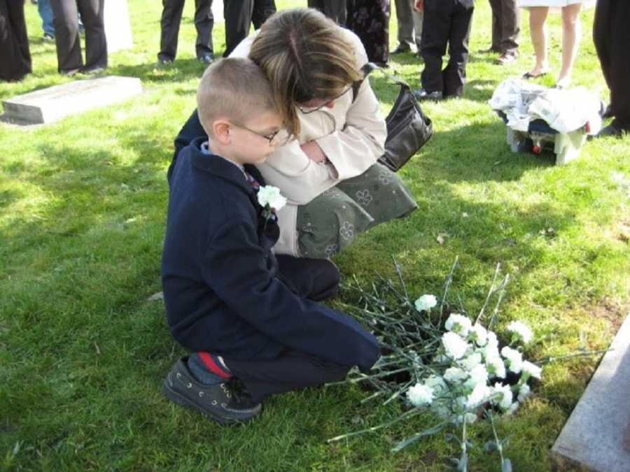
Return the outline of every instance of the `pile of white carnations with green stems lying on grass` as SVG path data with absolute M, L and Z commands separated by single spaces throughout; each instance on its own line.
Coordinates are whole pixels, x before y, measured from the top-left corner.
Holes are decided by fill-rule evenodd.
M 367 324 L 381 343 L 383 355 L 366 375 L 351 371 L 346 382 L 364 382 L 374 392 L 364 401 L 384 398 L 384 403 L 402 399 L 409 408 L 394 420 L 376 427 L 332 438 L 376 431 L 407 420 L 429 409 L 442 420 L 439 424 L 405 438 L 393 447 L 396 452 L 423 436 L 436 434 L 449 425 L 461 427 L 461 457 L 453 459 L 460 471 L 467 470 L 466 424 L 488 419 L 494 431 L 489 448 L 498 450 L 503 472 L 512 470 L 510 459 L 503 457 L 493 417 L 511 415 L 531 391 L 533 379 L 540 379 L 542 368 L 524 358 L 524 345 L 533 339 L 531 329 L 520 321 L 507 325 L 507 336 L 492 331 L 498 308 L 509 280 L 497 283 L 499 266 L 479 315 L 472 320 L 461 301 L 457 310 L 447 303 L 449 287 L 457 260 L 449 273 L 439 308 L 435 296 L 426 294 L 412 301 L 398 264 L 399 283 L 379 277 L 366 291 L 354 281 L 349 288 L 358 293 L 356 306 L 345 308 Z M 487 328 L 482 325 L 491 300 L 496 306 Z M 538 364 L 542 364 L 538 363 Z

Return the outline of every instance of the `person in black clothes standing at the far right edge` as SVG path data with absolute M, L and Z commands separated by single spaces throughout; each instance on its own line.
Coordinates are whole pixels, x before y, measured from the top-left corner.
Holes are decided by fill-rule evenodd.
M 598 137 L 630 133 L 630 3 L 598 0 L 593 41 L 610 89 L 610 116 L 615 119 Z

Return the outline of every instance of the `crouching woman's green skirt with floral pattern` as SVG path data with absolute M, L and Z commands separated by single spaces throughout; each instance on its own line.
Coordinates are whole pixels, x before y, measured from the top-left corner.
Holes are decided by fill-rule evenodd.
M 417 208 L 402 179 L 381 164 L 339 182 L 297 208 L 301 257 L 332 257 L 356 235 Z

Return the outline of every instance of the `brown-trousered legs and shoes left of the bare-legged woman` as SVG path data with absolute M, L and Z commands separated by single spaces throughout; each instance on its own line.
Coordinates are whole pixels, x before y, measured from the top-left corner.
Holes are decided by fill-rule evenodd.
M 492 45 L 487 52 L 499 52 L 496 62 L 511 64 L 519 57 L 520 9 L 516 0 L 490 0 Z

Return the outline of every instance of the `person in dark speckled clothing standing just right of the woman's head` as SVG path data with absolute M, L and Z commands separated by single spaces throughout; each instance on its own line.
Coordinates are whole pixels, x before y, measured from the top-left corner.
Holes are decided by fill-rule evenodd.
M 346 27 L 360 38 L 367 59 L 388 67 L 389 0 L 348 0 L 346 8 Z

